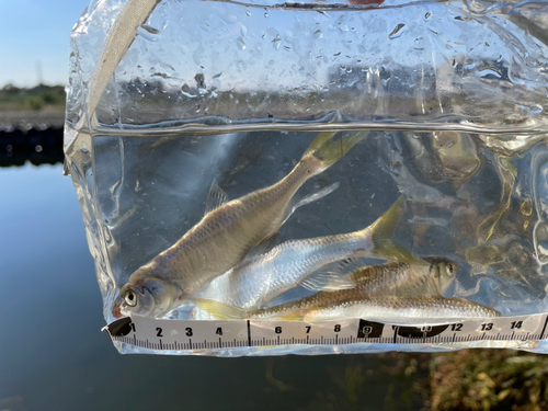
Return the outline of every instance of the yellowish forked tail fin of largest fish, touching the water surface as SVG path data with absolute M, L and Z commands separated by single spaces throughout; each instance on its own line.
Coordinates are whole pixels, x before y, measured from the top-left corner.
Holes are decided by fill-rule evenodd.
M 338 161 L 368 133 L 347 132 L 341 133 L 340 138 L 333 138 L 336 134 L 338 132 L 321 132 L 302 156 L 302 160 L 310 157 L 319 160 L 315 174 L 322 172 Z

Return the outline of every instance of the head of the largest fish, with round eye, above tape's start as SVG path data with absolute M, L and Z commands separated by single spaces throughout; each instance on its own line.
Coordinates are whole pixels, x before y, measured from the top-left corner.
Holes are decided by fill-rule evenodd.
M 139 278 L 128 282 L 119 290 L 112 309 L 115 318 L 151 317 L 167 315 L 176 300 L 175 287 L 157 277 Z

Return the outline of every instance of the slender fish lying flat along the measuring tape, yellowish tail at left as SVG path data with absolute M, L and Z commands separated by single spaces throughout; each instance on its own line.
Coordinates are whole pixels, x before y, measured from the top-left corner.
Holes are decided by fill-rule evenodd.
M 197 306 L 219 319 L 272 319 L 286 321 L 321 321 L 363 318 L 397 326 L 446 324 L 464 320 L 500 317 L 481 304 L 454 297 L 362 297 L 311 305 L 300 299 L 260 310 L 246 310 L 213 300 L 199 299 Z

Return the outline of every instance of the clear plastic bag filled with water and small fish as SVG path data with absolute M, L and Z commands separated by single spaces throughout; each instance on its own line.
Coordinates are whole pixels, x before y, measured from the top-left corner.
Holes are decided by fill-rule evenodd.
M 66 171 L 106 321 L 139 317 L 117 349 L 544 351 L 534 333 L 484 330 L 452 344 L 129 338 L 146 320 L 161 336 L 153 321 L 447 328 L 546 312 L 547 15 L 510 1 L 93 1 L 71 36 Z

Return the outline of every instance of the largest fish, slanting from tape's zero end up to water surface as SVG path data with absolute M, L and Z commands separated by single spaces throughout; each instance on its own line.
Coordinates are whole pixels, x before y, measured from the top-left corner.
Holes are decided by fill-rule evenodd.
M 176 243 L 134 272 L 114 302 L 113 316 L 161 317 L 275 235 L 296 208 L 292 208 L 292 199 L 299 187 L 366 136 L 363 132 L 344 133 L 333 141 L 335 134 L 320 133 L 279 182 L 220 204 Z M 219 203 L 226 201 L 218 197 Z

